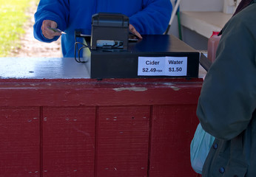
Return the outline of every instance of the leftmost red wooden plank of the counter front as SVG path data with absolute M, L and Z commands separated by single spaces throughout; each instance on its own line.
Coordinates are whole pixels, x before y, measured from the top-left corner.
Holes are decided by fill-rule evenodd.
M 39 108 L 0 107 L 0 176 L 40 176 Z

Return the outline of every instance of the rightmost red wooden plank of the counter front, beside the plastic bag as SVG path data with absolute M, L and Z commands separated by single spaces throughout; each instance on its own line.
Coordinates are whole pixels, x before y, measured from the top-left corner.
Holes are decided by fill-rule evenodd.
M 195 111 L 196 105 L 154 106 L 150 177 L 196 176 L 190 164 L 190 142 L 198 125 Z

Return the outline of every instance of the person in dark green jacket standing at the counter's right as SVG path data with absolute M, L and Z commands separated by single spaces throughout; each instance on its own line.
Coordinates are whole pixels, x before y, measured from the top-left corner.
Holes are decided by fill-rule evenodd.
M 247 1 L 223 27 L 198 100 L 201 125 L 216 137 L 203 177 L 256 176 L 256 0 Z

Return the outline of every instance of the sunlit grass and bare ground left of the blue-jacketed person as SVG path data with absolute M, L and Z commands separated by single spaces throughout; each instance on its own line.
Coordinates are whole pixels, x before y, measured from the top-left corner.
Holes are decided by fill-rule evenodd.
M 60 39 L 50 44 L 33 36 L 39 0 L 0 0 L 0 57 L 61 57 Z

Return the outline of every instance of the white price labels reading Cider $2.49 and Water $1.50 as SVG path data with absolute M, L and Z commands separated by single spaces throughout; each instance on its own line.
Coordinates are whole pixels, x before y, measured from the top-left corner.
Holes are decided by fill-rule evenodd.
M 140 76 L 186 76 L 186 57 L 138 57 Z

